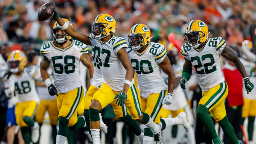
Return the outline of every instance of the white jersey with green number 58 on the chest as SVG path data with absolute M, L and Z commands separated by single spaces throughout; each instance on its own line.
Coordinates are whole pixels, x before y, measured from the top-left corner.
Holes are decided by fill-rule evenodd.
M 40 54 L 46 56 L 51 62 L 54 84 L 60 93 L 82 86 L 79 77 L 80 56 L 88 53 L 86 44 L 78 40 L 70 40 L 67 48 L 58 48 L 54 41 L 42 45 Z

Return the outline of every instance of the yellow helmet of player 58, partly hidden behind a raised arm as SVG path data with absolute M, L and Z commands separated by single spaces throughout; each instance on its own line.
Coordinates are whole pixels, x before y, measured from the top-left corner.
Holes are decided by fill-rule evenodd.
M 68 19 L 62 18 L 62 20 L 68 23 L 69 26 L 73 27 L 73 24 Z M 56 34 L 56 30 L 58 29 L 61 29 L 60 25 L 58 24 L 58 22 L 55 22 L 54 25 L 52 26 L 52 37 L 55 42 L 62 43 L 71 38 L 71 36 L 66 34 L 66 32 L 62 34 Z

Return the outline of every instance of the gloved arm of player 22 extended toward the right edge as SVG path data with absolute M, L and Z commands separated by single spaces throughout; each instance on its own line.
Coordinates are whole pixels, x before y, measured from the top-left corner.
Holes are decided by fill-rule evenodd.
M 236 54 L 233 52 L 233 50 L 231 50 L 227 46 L 222 50 L 221 55 L 224 56 L 225 58 L 227 58 L 228 60 L 232 61 L 235 64 L 236 68 L 241 73 L 242 77 L 244 78 L 244 86 L 245 86 L 247 94 L 249 94 L 249 92 L 252 91 L 252 88 L 254 86 L 250 82 L 250 80 L 246 74 L 246 71 L 244 69 L 244 65 L 239 60 L 238 56 L 236 56 Z

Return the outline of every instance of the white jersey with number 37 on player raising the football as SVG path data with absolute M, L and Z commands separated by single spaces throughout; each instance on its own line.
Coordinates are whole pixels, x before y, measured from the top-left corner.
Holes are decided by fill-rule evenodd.
M 113 36 L 108 42 L 93 39 L 92 58 L 95 69 L 100 69 L 104 82 L 114 91 L 121 91 L 124 86 L 126 70 L 120 61 L 117 52 L 121 48 L 126 48 L 126 40 L 119 36 Z M 97 70 L 96 70 L 97 72 Z

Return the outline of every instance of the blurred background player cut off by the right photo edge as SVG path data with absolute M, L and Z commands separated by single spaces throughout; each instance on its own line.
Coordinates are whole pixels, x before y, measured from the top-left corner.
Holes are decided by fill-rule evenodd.
M 252 42 L 249 40 L 244 40 L 242 42 L 242 49 L 252 51 Z M 247 56 L 242 56 L 245 59 L 241 59 L 242 64 L 246 70 L 246 73 L 250 77 L 250 80 L 253 84 L 256 83 L 256 65 L 254 62 L 251 62 Z M 244 96 L 244 105 L 242 107 L 242 125 L 244 124 L 245 118 L 248 118 L 248 144 L 253 144 L 253 131 L 254 131 L 254 120 L 256 116 L 256 89 L 252 89 L 252 92 L 249 94 L 246 91 L 243 91 Z

